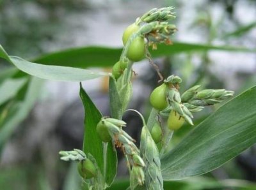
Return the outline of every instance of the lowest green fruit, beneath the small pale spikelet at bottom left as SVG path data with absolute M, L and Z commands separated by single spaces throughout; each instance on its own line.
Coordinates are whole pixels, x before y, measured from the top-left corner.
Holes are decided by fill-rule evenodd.
M 96 168 L 90 159 L 79 161 L 77 170 L 83 179 L 91 179 L 96 175 Z

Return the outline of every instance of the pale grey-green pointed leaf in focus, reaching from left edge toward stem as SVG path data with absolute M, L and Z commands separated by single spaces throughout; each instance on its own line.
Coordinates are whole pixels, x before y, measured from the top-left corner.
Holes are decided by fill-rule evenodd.
M 93 78 L 108 76 L 108 73 L 90 71 L 67 66 L 44 65 L 26 61 L 20 57 L 9 56 L 0 45 L 0 57 L 14 64 L 18 69 L 35 77 L 47 80 L 61 80 L 79 82 Z

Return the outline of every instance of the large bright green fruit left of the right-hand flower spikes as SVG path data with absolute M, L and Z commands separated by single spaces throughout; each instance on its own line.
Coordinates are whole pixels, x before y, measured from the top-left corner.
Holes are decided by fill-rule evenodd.
M 168 103 L 166 101 L 166 90 L 167 90 L 167 85 L 162 84 L 159 85 L 159 87 L 156 87 L 154 91 L 151 92 L 150 94 L 150 104 L 155 108 L 156 110 L 163 110 L 168 106 Z

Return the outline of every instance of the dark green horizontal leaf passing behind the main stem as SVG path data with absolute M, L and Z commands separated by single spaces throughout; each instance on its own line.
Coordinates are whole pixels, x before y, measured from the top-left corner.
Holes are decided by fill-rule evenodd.
M 190 51 L 222 50 L 231 52 L 256 52 L 256 49 L 243 47 L 214 46 L 204 44 L 173 42 L 173 45 L 161 44 L 157 50 L 151 51 L 153 57 L 179 54 Z M 113 66 L 118 61 L 122 48 L 108 47 L 81 47 L 70 48 L 60 52 L 45 54 L 33 59 L 32 62 L 41 64 L 54 64 L 56 66 L 70 66 L 75 68 L 107 67 Z

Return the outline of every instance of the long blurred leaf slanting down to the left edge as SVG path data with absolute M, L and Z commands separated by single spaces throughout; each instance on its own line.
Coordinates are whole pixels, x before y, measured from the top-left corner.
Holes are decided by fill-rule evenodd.
M 12 112 L 8 119 L 6 119 L 3 124 L 0 124 L 0 153 L 6 140 L 12 135 L 18 124 L 28 116 L 35 105 L 35 101 L 40 95 L 42 84 L 43 80 L 31 77 L 24 100 L 16 103 L 15 106 L 12 107 Z

